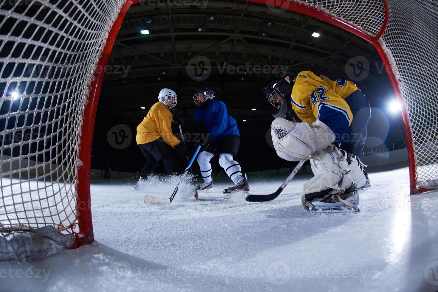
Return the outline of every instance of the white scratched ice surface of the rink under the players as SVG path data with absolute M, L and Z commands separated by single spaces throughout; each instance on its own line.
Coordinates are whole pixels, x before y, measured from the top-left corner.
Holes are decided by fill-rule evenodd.
M 248 177 L 251 193 L 272 193 L 286 176 Z M 95 243 L 1 263 L 0 291 L 438 290 L 438 191 L 410 196 L 407 168 L 371 172 L 360 213 L 313 215 L 300 203 L 309 177 L 264 203 L 223 200 L 226 178 L 201 201 L 186 185 L 166 207 L 143 197 L 169 197 L 175 178 L 143 192 L 132 181 L 96 179 Z

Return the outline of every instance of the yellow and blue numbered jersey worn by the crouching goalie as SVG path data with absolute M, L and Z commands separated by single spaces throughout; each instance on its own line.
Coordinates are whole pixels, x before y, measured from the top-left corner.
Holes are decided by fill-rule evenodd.
M 354 91 L 356 84 L 347 80 L 330 80 L 311 71 L 300 72 L 292 88 L 292 108 L 307 123 L 316 119 L 325 123 L 335 133 L 336 140 L 346 133 L 353 114 L 344 100 Z

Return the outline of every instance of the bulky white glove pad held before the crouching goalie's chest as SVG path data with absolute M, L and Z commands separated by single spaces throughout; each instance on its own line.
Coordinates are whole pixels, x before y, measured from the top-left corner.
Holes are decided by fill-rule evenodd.
M 305 160 L 335 141 L 333 131 L 320 120 L 309 124 L 276 118 L 271 124 L 271 135 L 277 155 L 288 161 Z

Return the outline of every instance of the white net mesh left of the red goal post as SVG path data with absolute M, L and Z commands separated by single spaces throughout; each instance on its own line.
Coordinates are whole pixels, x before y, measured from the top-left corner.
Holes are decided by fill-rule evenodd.
M 0 231 L 78 231 L 82 115 L 123 3 L 1 1 Z

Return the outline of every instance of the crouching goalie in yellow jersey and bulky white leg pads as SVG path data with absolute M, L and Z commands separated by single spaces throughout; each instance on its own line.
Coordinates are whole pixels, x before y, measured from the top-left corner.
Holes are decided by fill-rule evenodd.
M 370 183 L 363 170 L 366 165 L 353 153 L 364 147 L 371 118 L 368 100 L 351 81 L 332 81 L 311 71 L 300 72 L 293 82 L 290 80 L 289 76 L 272 75 L 263 90 L 273 106 L 280 109 L 290 102 L 304 121 L 280 117 L 271 125 L 280 158 L 310 158 L 314 177 L 303 186 L 303 207 L 313 212 L 359 211 L 357 189 Z

